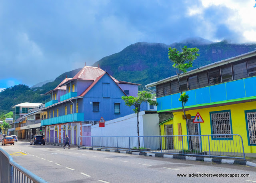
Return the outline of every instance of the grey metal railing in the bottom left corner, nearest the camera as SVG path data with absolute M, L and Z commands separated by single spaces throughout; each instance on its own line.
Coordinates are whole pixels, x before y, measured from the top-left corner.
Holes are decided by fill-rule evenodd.
M 41 177 L 28 171 L 12 160 L 12 157 L 0 148 L 0 182 L 1 183 L 44 183 Z

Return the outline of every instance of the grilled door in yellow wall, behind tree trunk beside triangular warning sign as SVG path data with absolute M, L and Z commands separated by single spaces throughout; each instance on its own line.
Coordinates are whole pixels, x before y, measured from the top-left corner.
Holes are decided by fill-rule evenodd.
M 191 119 L 188 119 L 188 135 L 199 135 L 198 133 L 198 123 L 193 123 L 194 117 Z M 200 124 L 199 124 L 200 125 Z M 197 150 L 200 151 L 200 142 L 199 142 L 199 136 L 192 136 L 188 137 L 188 147 L 190 150 Z

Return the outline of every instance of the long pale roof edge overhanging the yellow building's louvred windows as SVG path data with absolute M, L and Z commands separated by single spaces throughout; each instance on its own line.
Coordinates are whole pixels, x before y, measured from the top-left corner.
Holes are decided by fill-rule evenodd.
M 236 62 L 236 61 L 243 60 L 243 59 L 246 59 L 246 58 L 250 58 L 250 57 L 253 57 L 253 56 L 256 56 L 256 50 L 254 50 L 252 52 L 242 54 L 242 55 L 234 56 L 234 57 L 228 58 L 226 60 L 221 60 L 221 61 L 218 61 L 218 62 L 214 62 L 212 64 L 208 64 L 206 66 L 202 66 L 200 68 L 188 71 L 186 74 L 180 74 L 180 78 L 188 76 L 188 75 L 196 74 L 198 72 L 206 71 L 206 70 L 209 70 L 209 69 L 212 69 L 212 68 L 216 68 L 218 66 L 222 66 L 222 65 L 225 65 L 225 64 L 228 64 L 228 63 L 232 63 L 232 62 Z M 163 80 L 147 84 L 146 88 L 157 86 L 159 84 L 166 83 L 166 82 L 176 80 L 176 79 L 178 79 L 178 75 L 174 75 L 174 76 L 171 76 L 169 78 L 165 78 Z

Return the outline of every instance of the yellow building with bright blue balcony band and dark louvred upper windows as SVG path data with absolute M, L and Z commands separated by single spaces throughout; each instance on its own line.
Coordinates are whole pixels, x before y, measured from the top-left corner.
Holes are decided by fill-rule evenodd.
M 256 153 L 256 52 L 222 60 L 180 75 L 182 92 L 188 94 L 186 114 L 182 119 L 182 104 L 177 76 L 148 84 L 156 86 L 157 111 L 170 111 L 173 117 L 160 123 L 161 135 L 217 135 L 211 145 L 225 145 L 235 139 L 218 134 L 239 134 L 246 153 Z M 193 123 L 197 113 L 204 123 Z M 166 143 L 166 142 L 165 142 Z M 193 141 L 194 147 L 201 144 Z M 227 145 L 227 144 L 226 144 Z M 163 145 L 176 148 L 173 141 Z M 222 149 L 223 150 L 223 149 Z M 224 151 L 224 150 L 223 150 Z

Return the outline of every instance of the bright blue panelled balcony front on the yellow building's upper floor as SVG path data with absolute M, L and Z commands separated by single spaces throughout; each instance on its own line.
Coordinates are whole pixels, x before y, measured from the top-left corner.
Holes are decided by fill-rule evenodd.
M 186 109 L 256 99 L 255 83 L 256 76 L 186 91 L 186 94 L 189 96 Z M 182 109 L 179 97 L 180 93 L 158 97 L 156 99 L 158 102 L 157 111 L 164 112 Z

